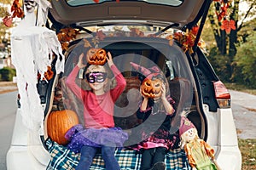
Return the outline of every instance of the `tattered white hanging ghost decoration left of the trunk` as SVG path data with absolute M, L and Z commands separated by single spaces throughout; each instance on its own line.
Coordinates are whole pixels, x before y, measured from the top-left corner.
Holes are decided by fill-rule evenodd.
M 50 3 L 41 1 L 37 0 L 38 10 L 47 14 Z M 24 125 L 39 134 L 44 134 L 44 108 L 37 90 L 38 73 L 43 75 L 43 79 L 55 54 L 55 70 L 59 74 L 64 71 L 65 59 L 55 31 L 43 26 L 46 14 L 40 14 L 36 23 L 35 13 L 27 13 L 11 35 L 12 64 L 17 74 L 20 114 Z

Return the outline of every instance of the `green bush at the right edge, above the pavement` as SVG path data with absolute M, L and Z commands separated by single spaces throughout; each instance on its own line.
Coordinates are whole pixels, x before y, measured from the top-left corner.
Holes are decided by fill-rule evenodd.
M 233 78 L 250 88 L 256 88 L 256 31 L 247 37 L 247 42 L 241 43 L 233 62 Z

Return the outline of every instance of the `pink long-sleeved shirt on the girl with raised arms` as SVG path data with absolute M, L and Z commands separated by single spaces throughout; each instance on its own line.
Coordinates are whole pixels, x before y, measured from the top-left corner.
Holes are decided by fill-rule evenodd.
M 73 93 L 82 99 L 84 103 L 84 127 L 85 128 L 104 128 L 114 127 L 113 106 L 114 102 L 125 89 L 126 82 L 123 75 L 115 65 L 111 66 L 117 85 L 105 94 L 96 95 L 92 91 L 80 88 L 75 78 L 79 72 L 79 66 L 76 65 L 73 71 L 67 77 L 67 86 Z

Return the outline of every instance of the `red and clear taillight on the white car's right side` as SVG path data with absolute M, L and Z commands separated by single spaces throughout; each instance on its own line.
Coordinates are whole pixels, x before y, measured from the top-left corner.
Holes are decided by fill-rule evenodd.
M 223 82 L 213 82 L 215 89 L 215 96 L 218 101 L 219 108 L 230 108 L 231 106 L 231 97 L 230 92 L 224 86 Z

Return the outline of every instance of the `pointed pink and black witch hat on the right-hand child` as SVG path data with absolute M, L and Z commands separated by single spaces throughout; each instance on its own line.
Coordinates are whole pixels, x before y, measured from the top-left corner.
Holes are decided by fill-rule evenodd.
M 136 63 L 130 62 L 131 66 L 143 74 L 144 77 L 151 79 L 152 77 L 161 76 L 160 69 L 157 66 L 153 66 L 151 68 L 145 68 L 142 65 L 137 65 Z

